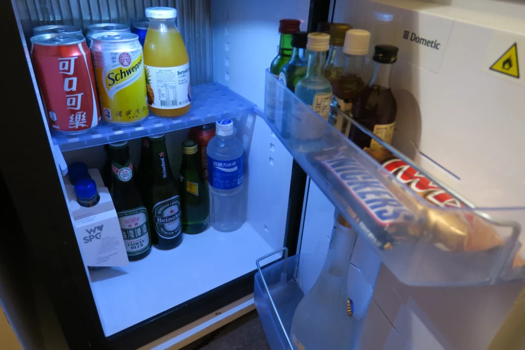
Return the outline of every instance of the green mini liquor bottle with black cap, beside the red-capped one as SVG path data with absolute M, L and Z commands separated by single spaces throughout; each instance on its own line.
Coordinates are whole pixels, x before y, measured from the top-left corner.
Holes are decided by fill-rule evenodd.
M 282 66 L 279 73 L 279 81 L 292 91 L 295 91 L 297 82 L 306 76 L 306 43 L 308 33 L 298 31 L 292 34 L 292 56 L 286 65 Z

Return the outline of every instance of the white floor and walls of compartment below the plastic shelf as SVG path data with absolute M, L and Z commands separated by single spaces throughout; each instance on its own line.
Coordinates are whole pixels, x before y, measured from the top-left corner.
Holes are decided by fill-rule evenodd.
M 129 267 L 91 271 L 91 290 L 107 336 L 253 271 L 257 258 L 282 247 L 292 157 L 261 116 L 241 116 L 235 126 L 245 148 L 246 224 L 226 234 L 208 228 L 202 234 L 185 235 L 180 247 L 153 248 Z M 187 130 L 166 134 L 176 179 L 186 136 Z M 130 140 L 129 145 L 132 162 L 140 168 L 140 140 Z M 103 146 L 65 153 L 67 163 L 83 161 L 99 169 L 105 157 Z M 134 304 L 141 307 L 130 307 Z

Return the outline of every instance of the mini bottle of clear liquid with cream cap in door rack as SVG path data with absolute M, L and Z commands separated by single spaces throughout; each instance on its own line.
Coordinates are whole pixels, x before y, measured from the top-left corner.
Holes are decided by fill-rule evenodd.
M 296 95 L 310 108 L 316 111 L 324 120 L 328 121 L 330 103 L 332 101 L 332 87 L 330 81 L 324 77 L 323 71 L 326 62 L 326 52 L 329 49 L 330 35 L 325 33 L 308 34 L 307 56 L 308 68 L 304 78 L 296 84 Z M 292 107 L 293 108 L 293 107 Z M 320 119 L 310 119 L 310 123 L 302 122 L 302 109 L 292 110 L 292 130 L 294 139 L 304 143 L 320 139 L 325 131 Z M 299 149 L 303 145 L 299 145 Z

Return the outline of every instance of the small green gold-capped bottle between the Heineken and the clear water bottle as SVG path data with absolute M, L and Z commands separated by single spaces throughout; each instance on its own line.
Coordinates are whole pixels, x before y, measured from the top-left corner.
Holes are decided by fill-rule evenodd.
M 193 140 L 182 143 L 181 205 L 182 231 L 185 234 L 199 234 L 208 227 L 209 193 L 202 172 L 197 144 Z

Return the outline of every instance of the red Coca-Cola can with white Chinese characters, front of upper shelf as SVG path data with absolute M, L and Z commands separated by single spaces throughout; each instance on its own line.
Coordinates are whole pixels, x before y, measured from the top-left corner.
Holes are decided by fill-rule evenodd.
M 78 34 L 31 38 L 31 58 L 51 129 L 82 132 L 100 123 L 91 53 Z

